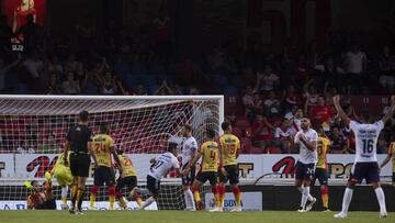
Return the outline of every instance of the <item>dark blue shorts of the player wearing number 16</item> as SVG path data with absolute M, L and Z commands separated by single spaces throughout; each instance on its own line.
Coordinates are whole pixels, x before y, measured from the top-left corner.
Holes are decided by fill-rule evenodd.
M 380 182 L 380 169 L 377 161 L 356 163 L 351 168 L 350 181 L 361 183 Z

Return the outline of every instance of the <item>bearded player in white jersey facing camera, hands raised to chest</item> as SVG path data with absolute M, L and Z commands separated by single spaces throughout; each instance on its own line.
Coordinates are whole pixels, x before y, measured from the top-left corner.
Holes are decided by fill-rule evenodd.
M 302 119 L 301 130 L 295 135 L 295 144 L 300 148 L 300 160 L 297 161 L 295 186 L 302 193 L 301 208 L 298 212 L 312 210 L 316 199 L 309 193 L 309 186 L 314 176 L 315 165 L 318 160 L 317 155 L 318 134 L 311 129 L 311 121 Z M 309 204 L 306 207 L 307 200 Z

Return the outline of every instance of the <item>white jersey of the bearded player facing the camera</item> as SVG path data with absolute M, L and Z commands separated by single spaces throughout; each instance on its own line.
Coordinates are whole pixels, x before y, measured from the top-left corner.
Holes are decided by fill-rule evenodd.
M 318 160 L 317 148 L 309 150 L 301 141 L 300 135 L 304 135 L 307 142 L 318 141 L 318 134 L 315 130 L 308 129 L 307 132 L 298 131 L 295 135 L 295 144 L 300 145 L 300 161 L 303 164 L 316 164 Z

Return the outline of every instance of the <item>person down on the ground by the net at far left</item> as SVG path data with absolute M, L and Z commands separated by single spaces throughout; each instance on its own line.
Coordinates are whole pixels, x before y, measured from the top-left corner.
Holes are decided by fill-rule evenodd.
M 26 203 L 27 209 L 35 210 L 56 210 L 56 201 L 53 194 L 50 182 L 50 174 L 45 172 L 46 181 L 40 186 L 38 181 L 25 181 L 25 186 L 30 191 Z

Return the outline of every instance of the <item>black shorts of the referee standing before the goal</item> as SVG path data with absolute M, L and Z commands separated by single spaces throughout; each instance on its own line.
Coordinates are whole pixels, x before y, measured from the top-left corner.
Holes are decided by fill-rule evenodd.
M 74 177 L 89 177 L 90 156 L 86 153 L 70 154 L 70 170 Z

